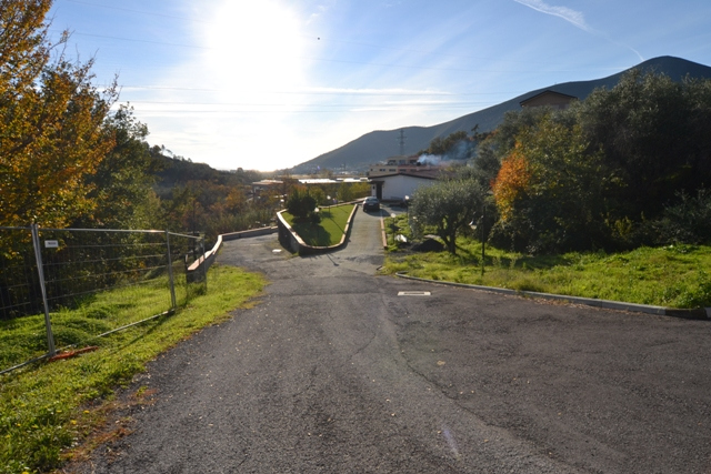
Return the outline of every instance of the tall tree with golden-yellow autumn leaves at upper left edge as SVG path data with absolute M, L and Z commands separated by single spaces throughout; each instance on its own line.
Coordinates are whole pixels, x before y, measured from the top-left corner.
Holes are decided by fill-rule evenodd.
M 96 202 L 93 174 L 113 147 L 103 127 L 116 85 L 92 85 L 92 61 L 70 62 L 52 44 L 51 0 L 0 2 L 0 223 L 63 226 Z M 54 59 L 51 57 L 54 54 Z

